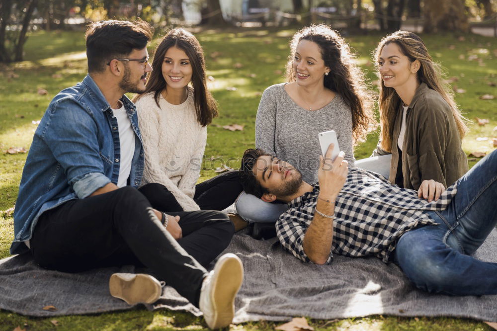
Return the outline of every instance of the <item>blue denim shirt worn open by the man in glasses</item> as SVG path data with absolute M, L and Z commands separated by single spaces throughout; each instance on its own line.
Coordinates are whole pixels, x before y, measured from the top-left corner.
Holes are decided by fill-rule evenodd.
M 138 116 L 125 95 L 120 101 L 138 137 L 128 178 L 128 185 L 138 187 L 144 165 Z M 10 253 L 28 250 L 23 242 L 31 239 L 44 211 L 117 184 L 120 160 L 117 119 L 91 77 L 59 92 L 36 129 L 22 171 Z

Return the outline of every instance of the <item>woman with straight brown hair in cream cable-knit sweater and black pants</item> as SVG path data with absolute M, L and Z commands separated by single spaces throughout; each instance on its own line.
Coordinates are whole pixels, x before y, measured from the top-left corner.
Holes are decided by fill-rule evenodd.
M 151 203 L 168 211 L 225 209 L 242 191 L 238 171 L 196 185 L 207 125 L 217 116 L 198 40 L 182 28 L 170 30 L 156 49 L 152 68 L 146 91 L 133 100 L 145 150 L 142 185 L 157 183 L 163 187 L 151 189 L 170 194 L 166 201 Z

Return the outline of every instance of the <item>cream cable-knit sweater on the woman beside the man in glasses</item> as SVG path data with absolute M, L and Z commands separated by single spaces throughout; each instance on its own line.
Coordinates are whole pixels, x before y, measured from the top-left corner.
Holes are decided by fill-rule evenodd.
M 185 102 L 174 105 L 154 94 L 137 102 L 138 121 L 145 150 L 142 185 L 160 183 L 174 195 L 184 211 L 199 210 L 193 201 L 207 141 L 207 127 L 195 115 L 193 92 Z

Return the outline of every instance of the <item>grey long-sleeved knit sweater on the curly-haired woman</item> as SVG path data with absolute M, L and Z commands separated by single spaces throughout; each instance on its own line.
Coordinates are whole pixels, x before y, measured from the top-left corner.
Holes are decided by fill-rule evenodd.
M 354 165 L 352 115 L 336 94 L 325 107 L 309 111 L 297 105 L 284 85 L 269 86 L 262 93 L 255 118 L 255 147 L 289 162 L 302 172 L 308 183 L 318 182 L 318 133 L 334 130 L 345 160 Z

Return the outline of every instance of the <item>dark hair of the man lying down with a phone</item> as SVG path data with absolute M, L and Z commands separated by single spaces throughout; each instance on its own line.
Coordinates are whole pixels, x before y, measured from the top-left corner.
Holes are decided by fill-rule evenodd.
M 265 193 L 269 193 L 269 191 L 262 187 L 257 181 L 257 178 L 255 178 L 255 174 L 253 173 L 253 168 L 255 167 L 257 159 L 264 155 L 269 154 L 259 148 L 250 148 L 245 151 L 239 172 L 240 183 L 242 184 L 244 191 L 248 194 L 255 195 L 258 198 L 261 198 Z

